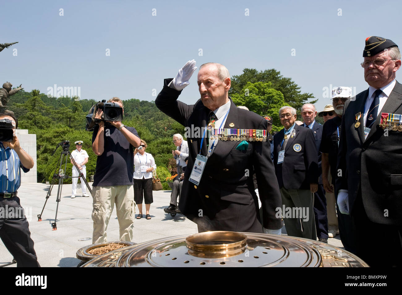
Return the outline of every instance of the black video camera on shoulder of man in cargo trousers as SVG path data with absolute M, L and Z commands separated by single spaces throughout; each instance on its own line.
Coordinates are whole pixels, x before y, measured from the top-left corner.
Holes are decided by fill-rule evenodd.
M 102 119 L 92 119 L 92 117 L 96 114 L 98 109 L 103 111 Z M 93 131 L 95 128 L 95 124 L 99 124 L 99 122 L 103 121 L 123 121 L 123 108 L 116 104 L 115 102 L 106 102 L 106 100 L 102 100 L 92 106 L 88 115 L 86 115 L 86 131 Z

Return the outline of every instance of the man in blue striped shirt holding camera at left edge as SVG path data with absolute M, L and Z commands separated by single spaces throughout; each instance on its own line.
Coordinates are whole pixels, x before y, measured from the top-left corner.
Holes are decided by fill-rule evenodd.
M 12 141 L 0 142 L 0 210 L 8 215 L 9 209 L 14 208 L 14 218 L 0 218 L 0 238 L 4 246 L 17 260 L 17 267 L 40 267 L 33 249 L 33 240 L 29 232 L 27 218 L 18 216 L 17 212 L 22 210 L 20 199 L 17 197 L 17 189 L 21 185 L 21 170 L 28 172 L 34 165 L 33 159 L 24 151 L 18 138 L 15 136 L 15 129 L 18 121 L 13 112 L 2 110 L 0 120 L 12 121 L 14 134 Z M 8 209 L 7 209 L 8 208 Z

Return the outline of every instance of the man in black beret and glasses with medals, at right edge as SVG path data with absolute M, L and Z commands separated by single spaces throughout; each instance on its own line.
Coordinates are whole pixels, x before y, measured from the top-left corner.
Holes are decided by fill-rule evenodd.
M 345 102 L 338 205 L 351 215 L 359 257 L 372 267 L 402 266 L 396 255 L 402 251 L 402 85 L 395 79 L 401 55 L 393 41 L 371 36 L 363 57 L 369 88 Z

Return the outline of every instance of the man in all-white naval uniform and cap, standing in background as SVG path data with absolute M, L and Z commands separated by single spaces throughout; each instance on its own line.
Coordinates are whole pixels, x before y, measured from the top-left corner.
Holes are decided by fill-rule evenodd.
M 86 153 L 85 150 L 82 149 L 82 144 L 84 142 L 82 142 L 81 140 L 77 140 L 74 143 L 76 144 L 76 150 L 74 150 L 71 153 L 71 157 L 77 163 L 77 166 L 80 169 L 80 171 L 77 170 L 77 168 L 73 164 L 73 161 L 70 159 L 71 164 L 73 164 L 71 198 L 74 199 L 75 195 L 77 193 L 77 183 L 78 183 L 78 177 L 80 176 L 80 173 L 82 173 L 84 175 L 84 178 L 82 178 L 82 176 L 80 177 L 81 178 L 82 196 L 89 197 L 89 195 L 86 193 L 86 184 L 84 181 L 84 179 L 86 179 L 85 164 L 88 163 L 88 154 Z

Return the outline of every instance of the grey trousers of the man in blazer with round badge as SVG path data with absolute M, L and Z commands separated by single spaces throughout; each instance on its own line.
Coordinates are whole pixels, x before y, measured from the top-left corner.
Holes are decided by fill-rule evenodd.
M 282 216 L 288 236 L 317 240 L 314 219 L 314 194 L 307 189 L 280 189 Z

